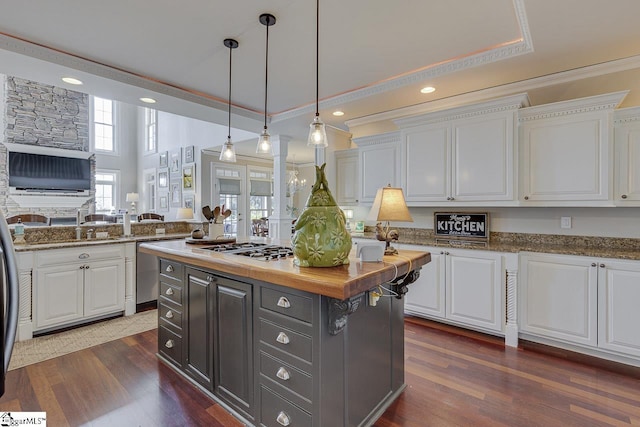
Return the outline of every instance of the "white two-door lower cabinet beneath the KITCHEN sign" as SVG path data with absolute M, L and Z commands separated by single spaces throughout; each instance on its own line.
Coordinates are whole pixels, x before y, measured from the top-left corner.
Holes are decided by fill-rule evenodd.
M 481 250 L 401 245 L 431 253 L 431 262 L 409 285 L 405 312 L 448 320 L 488 332 L 504 331 L 505 270 L 502 254 Z

